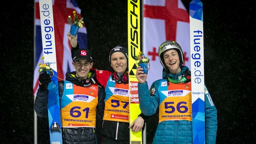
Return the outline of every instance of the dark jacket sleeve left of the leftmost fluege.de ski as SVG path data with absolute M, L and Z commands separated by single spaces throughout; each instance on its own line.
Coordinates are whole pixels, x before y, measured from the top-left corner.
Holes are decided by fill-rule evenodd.
M 34 109 L 39 117 L 48 116 L 48 93 L 49 91 L 37 91 L 37 97 L 35 99 Z

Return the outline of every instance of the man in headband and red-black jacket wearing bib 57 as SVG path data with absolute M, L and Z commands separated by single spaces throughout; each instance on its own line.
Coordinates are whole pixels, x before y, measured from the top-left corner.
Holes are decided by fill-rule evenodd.
M 77 36 L 67 36 L 73 53 L 79 49 Z M 129 123 L 128 49 L 114 47 L 108 61 L 112 71 L 93 68 L 97 81 L 106 92 L 101 144 L 130 144 L 130 128 L 135 132 L 143 130 L 149 117 L 141 113 L 131 125 Z

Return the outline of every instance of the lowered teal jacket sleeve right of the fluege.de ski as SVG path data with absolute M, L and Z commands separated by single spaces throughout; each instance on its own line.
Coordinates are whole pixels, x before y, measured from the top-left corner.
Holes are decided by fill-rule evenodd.
M 215 144 L 217 136 L 217 109 L 205 86 L 205 142 Z

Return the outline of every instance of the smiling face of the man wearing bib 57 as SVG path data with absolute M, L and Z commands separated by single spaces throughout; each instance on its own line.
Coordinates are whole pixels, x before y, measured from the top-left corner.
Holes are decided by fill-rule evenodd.
M 127 59 L 124 53 L 121 53 L 121 52 L 113 53 L 111 55 L 110 62 L 111 62 L 111 67 L 118 74 L 122 74 L 126 71 Z

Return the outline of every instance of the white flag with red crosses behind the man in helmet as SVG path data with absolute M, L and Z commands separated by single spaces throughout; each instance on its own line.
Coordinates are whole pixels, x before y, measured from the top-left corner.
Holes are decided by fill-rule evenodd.
M 143 0 L 143 53 L 150 59 L 148 86 L 163 78 L 158 47 L 166 40 L 180 44 L 190 68 L 189 13 L 181 0 Z

